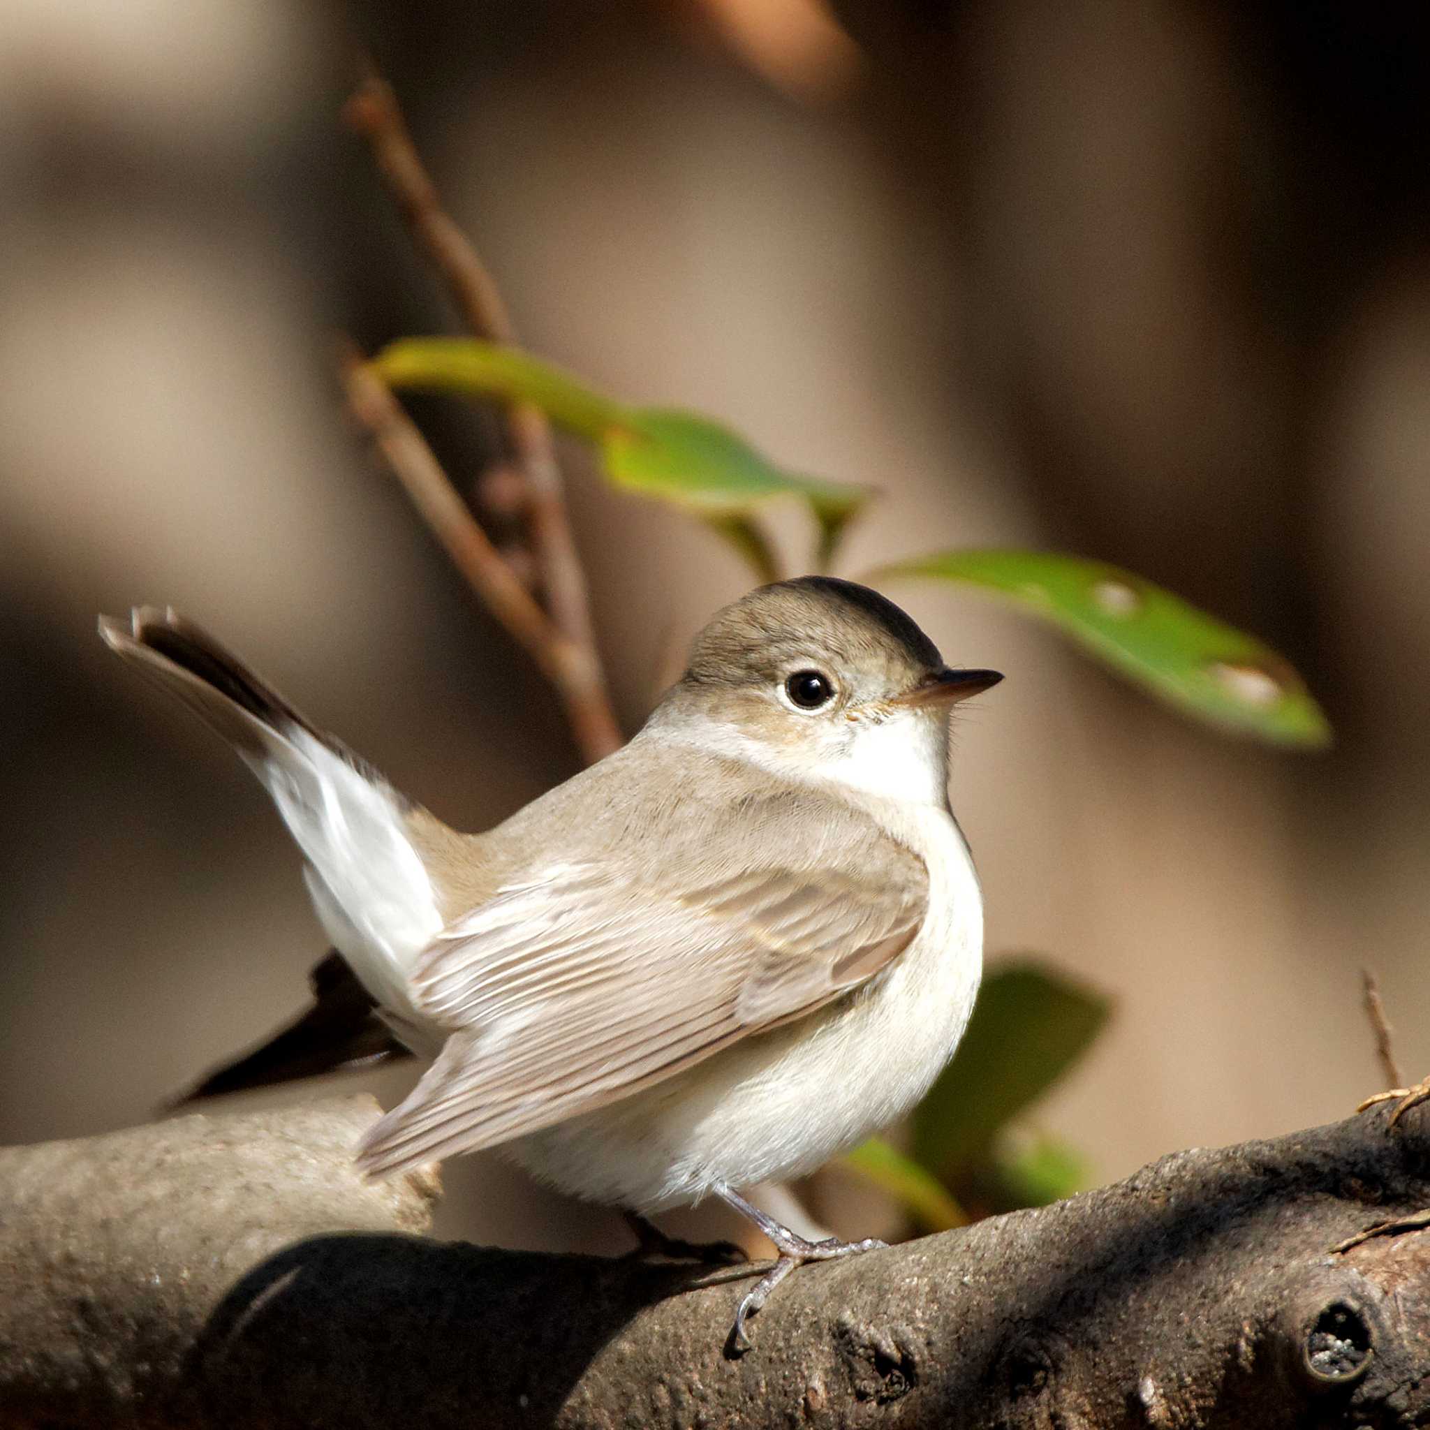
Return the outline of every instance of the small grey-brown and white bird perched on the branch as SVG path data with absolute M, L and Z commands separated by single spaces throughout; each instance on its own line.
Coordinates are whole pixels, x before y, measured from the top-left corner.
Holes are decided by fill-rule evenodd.
M 881 1246 L 807 1240 L 741 1188 L 897 1121 L 962 1035 L 982 899 L 948 711 L 995 671 L 948 669 L 865 586 L 762 586 L 715 615 L 628 745 L 472 835 L 172 609 L 100 633 L 262 781 L 335 948 L 313 1012 L 202 1091 L 395 1040 L 432 1062 L 363 1138 L 370 1177 L 499 1147 L 665 1248 L 645 1218 L 718 1197 L 779 1253 L 732 1353 L 795 1267 Z

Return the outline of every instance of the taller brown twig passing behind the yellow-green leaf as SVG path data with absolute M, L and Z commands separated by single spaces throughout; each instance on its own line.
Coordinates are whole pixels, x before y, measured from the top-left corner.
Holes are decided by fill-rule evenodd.
M 392 86 L 378 74 L 368 76 L 349 99 L 343 114 L 347 124 L 368 140 L 378 172 L 413 240 L 442 276 L 466 326 L 478 337 L 516 342 L 500 290 L 472 242 L 442 207 Z M 586 578 L 566 516 L 556 445 L 545 415 L 531 403 L 513 403 L 508 425 L 516 462 L 526 479 L 528 529 L 546 603 L 558 629 L 586 651 L 595 671 L 591 698 L 605 706 L 608 728 L 596 746 L 599 754 L 595 758 L 599 758 L 618 748 L 622 738 L 601 669 Z

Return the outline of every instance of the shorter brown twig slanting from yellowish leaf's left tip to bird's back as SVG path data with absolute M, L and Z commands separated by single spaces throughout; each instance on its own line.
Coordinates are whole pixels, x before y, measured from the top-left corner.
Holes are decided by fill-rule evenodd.
M 482 531 L 392 389 L 350 347 L 342 355 L 342 375 L 353 416 L 372 435 L 452 563 L 556 688 L 582 756 L 589 764 L 608 755 L 621 744 L 621 735 L 589 648 L 559 631 L 536 603 Z

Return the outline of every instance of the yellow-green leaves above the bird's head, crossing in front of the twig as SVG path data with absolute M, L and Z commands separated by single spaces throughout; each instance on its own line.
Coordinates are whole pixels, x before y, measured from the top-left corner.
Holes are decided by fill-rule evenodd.
M 762 576 L 776 566 L 764 533 L 749 522 L 762 503 L 804 500 L 819 522 L 821 561 L 828 561 L 871 496 L 864 486 L 786 472 L 698 413 L 626 406 L 515 347 L 472 337 L 406 337 L 385 347 L 372 366 L 393 388 L 535 403 L 596 446 L 616 486 L 712 522 Z

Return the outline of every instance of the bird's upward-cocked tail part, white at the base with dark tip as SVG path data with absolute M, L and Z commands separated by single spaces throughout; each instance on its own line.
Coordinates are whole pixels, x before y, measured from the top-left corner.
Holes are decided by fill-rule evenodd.
M 442 927 L 409 801 L 173 609 L 102 616 L 99 632 L 237 749 L 307 859 L 329 937 L 369 991 L 400 1010 L 406 964 Z

